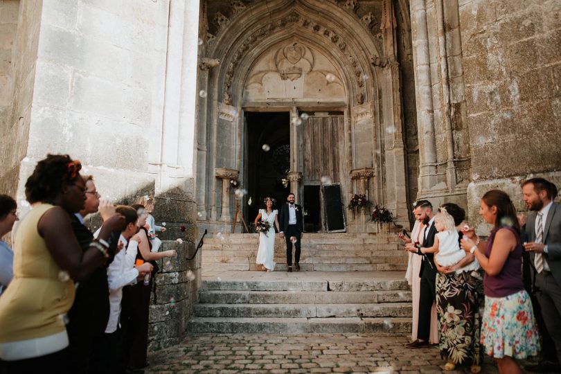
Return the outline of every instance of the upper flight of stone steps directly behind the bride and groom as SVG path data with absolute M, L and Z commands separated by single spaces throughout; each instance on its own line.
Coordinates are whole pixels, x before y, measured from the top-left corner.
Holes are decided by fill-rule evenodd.
M 205 270 L 260 270 L 256 265 L 259 234 L 213 234 L 202 247 Z M 276 237 L 275 270 L 286 269 L 285 240 Z M 397 236 L 377 233 L 305 233 L 301 240 L 303 271 L 382 271 L 407 269 L 407 254 Z

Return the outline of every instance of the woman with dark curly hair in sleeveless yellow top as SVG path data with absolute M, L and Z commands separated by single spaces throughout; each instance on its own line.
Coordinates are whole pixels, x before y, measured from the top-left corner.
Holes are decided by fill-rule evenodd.
M 26 182 L 33 208 L 15 238 L 14 278 L 0 298 L 0 359 L 4 373 L 69 373 L 66 312 L 74 282 L 108 257 L 107 239 L 123 226 L 113 207 L 100 212 L 100 235 L 82 251 L 70 215 L 84 206 L 80 161 L 49 154 Z

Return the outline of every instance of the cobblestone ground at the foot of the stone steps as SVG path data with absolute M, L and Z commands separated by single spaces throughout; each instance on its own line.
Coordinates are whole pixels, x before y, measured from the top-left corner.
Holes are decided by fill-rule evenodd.
M 195 335 L 150 353 L 146 373 L 470 373 L 443 371 L 438 348 L 368 334 Z M 497 373 L 490 359 L 482 373 Z

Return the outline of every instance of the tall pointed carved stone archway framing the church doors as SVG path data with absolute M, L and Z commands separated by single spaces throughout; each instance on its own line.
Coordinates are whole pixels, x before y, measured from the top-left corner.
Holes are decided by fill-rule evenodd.
M 243 114 L 251 107 L 289 110 L 293 117 L 301 111 L 341 112 L 344 202 L 352 193 L 367 193 L 371 200 L 388 206 L 399 220 L 406 221 L 392 1 L 378 3 L 380 7 L 373 8 L 376 14 L 368 12 L 362 17 L 352 4 L 347 4 L 353 1 L 337 5 L 318 0 L 276 0 L 251 7 L 237 3 L 231 19 L 222 12 L 215 13 L 216 35 L 205 35 L 203 42 L 199 84 L 207 95 L 199 98 L 199 218 L 211 223 L 223 215 L 220 184 L 224 179 L 215 177 L 215 168 L 238 170 L 244 178 Z M 204 8 L 204 19 L 210 18 L 208 6 L 207 3 Z M 319 60 L 323 67 L 330 65 L 328 69 L 319 69 Z M 267 69 L 261 69 L 263 64 Z M 323 82 L 329 83 L 328 74 L 335 77 L 332 86 L 325 84 L 322 94 L 317 95 L 320 87 L 310 84 L 310 80 L 314 75 L 323 75 Z M 339 88 L 332 89 L 337 84 Z M 294 127 L 293 149 L 299 147 L 301 138 Z M 299 173 L 299 164 L 299 157 L 294 157 L 291 171 Z M 353 170 L 362 169 L 371 170 L 366 183 L 351 178 Z M 291 179 L 301 188 L 298 175 Z M 212 229 L 212 224 L 208 227 Z

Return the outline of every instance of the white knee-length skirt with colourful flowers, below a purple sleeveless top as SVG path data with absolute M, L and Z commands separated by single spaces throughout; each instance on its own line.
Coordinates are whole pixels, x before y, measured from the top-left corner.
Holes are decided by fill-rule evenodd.
M 485 296 L 481 344 L 490 357 L 524 359 L 540 351 L 540 336 L 530 296 L 519 291 L 506 297 Z

